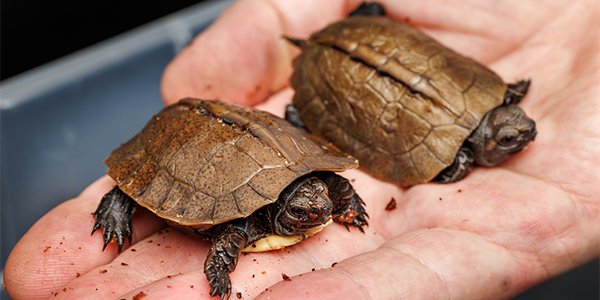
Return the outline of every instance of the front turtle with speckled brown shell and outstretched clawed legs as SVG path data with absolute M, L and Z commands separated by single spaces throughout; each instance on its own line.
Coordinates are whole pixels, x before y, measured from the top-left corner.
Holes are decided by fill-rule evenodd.
M 122 250 L 138 205 L 211 242 L 211 296 L 229 298 L 240 253 L 297 243 L 328 223 L 368 226 L 365 203 L 337 172 L 356 158 L 268 112 L 186 98 L 165 107 L 105 160 L 116 186 L 93 213 Z

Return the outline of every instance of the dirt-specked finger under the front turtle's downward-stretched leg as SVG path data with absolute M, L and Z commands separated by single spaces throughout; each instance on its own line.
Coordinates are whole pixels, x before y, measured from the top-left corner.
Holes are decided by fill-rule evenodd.
M 242 255 L 232 273 L 233 294 L 256 296 L 282 279 L 328 267 L 335 261 L 376 249 L 380 236 L 367 231 L 347 231 L 332 225 L 322 233 L 281 251 Z M 315 255 L 318 251 L 319 255 Z M 210 291 L 203 273 L 208 243 L 177 230 L 164 229 L 133 245 L 106 265 L 98 266 L 69 282 L 57 299 L 122 298 L 143 292 L 157 296 Z M 193 285 L 193 287 L 191 287 Z

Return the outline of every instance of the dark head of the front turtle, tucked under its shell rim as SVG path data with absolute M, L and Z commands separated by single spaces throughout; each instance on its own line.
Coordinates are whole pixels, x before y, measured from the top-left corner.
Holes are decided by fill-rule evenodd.
M 285 204 L 276 213 L 276 234 L 302 234 L 331 218 L 333 203 L 329 199 L 327 185 L 316 177 L 294 181 L 279 200 L 285 201 Z

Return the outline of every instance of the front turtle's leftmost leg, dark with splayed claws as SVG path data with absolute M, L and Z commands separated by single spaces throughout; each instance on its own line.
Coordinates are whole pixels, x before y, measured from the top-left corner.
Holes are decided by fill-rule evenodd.
M 108 243 L 114 238 L 117 242 L 119 252 L 123 249 L 125 237 L 131 244 L 131 216 L 135 212 L 136 203 L 129 196 L 125 195 L 119 187 L 115 187 L 106 193 L 98 208 L 92 215 L 96 219 L 92 234 L 102 228 L 104 246 L 106 249 Z

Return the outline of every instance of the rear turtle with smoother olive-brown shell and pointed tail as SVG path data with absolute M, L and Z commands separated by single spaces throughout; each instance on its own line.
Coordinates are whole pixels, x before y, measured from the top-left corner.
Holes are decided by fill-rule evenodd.
M 307 40 L 290 82 L 286 119 L 352 154 L 373 177 L 407 187 L 456 182 L 533 141 L 517 104 L 531 80 L 492 70 L 409 24 L 361 5 Z

